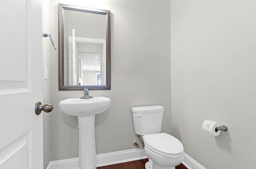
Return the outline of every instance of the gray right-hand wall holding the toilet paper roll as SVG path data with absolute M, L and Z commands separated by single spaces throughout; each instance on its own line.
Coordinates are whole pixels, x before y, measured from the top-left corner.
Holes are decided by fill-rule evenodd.
M 207 169 L 254 168 L 256 2 L 171 0 L 172 132 Z M 228 126 L 218 137 L 202 122 Z

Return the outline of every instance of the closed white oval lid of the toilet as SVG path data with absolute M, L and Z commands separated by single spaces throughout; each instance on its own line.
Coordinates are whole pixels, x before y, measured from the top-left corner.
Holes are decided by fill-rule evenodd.
M 184 150 L 180 140 L 166 133 L 145 135 L 144 141 L 152 149 L 168 155 L 179 155 Z

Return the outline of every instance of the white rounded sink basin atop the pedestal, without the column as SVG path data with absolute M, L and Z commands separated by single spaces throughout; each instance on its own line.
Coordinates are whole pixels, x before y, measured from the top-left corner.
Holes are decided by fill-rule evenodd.
M 96 96 L 89 99 L 68 98 L 59 103 L 60 109 L 71 116 L 92 116 L 107 110 L 110 98 Z

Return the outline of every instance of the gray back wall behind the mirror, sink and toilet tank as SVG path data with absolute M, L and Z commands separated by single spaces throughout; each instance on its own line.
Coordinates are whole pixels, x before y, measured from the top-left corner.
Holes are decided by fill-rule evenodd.
M 96 153 L 135 148 L 133 106 L 162 105 L 162 132 L 171 134 L 170 1 L 169 0 L 50 0 L 50 33 L 58 39 L 58 3 L 110 10 L 111 90 L 92 90 L 91 96 L 112 100 L 96 115 Z M 78 120 L 58 107 L 61 100 L 80 97 L 80 91 L 58 91 L 58 51 L 50 47 L 50 101 L 45 163 L 78 157 Z M 45 166 L 46 167 L 46 166 Z

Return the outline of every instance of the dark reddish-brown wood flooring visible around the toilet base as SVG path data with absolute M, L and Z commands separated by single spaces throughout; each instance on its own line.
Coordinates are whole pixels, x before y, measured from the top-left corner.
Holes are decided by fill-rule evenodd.
M 145 169 L 145 164 L 148 162 L 148 159 L 141 159 L 136 161 L 130 161 L 126 163 L 107 165 L 102 167 L 97 167 L 97 169 Z M 180 164 L 175 167 L 176 169 L 188 169 L 183 164 Z

